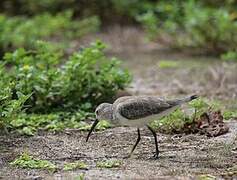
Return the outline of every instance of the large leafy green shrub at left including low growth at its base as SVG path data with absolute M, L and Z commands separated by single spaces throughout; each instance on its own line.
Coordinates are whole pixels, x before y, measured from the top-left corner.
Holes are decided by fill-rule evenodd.
M 105 56 L 104 48 L 98 41 L 66 60 L 60 49 L 39 41 L 35 50 L 6 53 L 0 61 L 2 127 L 26 135 L 38 129 L 88 130 L 82 120 L 94 117 L 94 108 L 111 101 L 131 80 L 116 58 Z M 97 129 L 108 127 L 102 121 Z

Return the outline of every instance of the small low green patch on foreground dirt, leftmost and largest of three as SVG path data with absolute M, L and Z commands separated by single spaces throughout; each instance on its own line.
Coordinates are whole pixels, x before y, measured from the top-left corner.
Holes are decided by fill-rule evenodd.
M 28 169 L 43 169 L 50 172 L 56 171 L 57 167 L 47 160 L 34 159 L 27 153 L 23 153 L 20 157 L 10 163 L 12 166 Z

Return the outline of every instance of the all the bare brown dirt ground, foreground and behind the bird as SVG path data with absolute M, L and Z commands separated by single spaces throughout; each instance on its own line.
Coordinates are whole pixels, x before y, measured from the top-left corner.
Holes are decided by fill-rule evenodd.
M 220 60 L 172 52 L 156 43 L 146 43 L 140 30 L 115 28 L 84 39 L 101 38 L 110 44 L 109 55 L 124 59 L 123 66 L 134 75 L 128 91 L 131 94 L 182 96 L 197 93 L 219 99 L 227 107 L 237 108 L 237 65 Z M 83 44 L 83 43 L 82 43 Z M 76 45 L 75 45 L 76 46 Z M 159 67 L 160 60 L 176 60 L 175 68 Z M 40 132 L 34 137 L 16 134 L 0 136 L 0 179 L 198 179 L 212 175 L 237 179 L 237 121 L 228 122 L 230 131 L 208 138 L 201 135 L 158 134 L 160 158 L 154 159 L 154 140 L 146 129 L 131 158 L 127 158 L 136 141 L 136 128 L 116 127 L 92 134 L 66 130 L 61 133 Z M 49 160 L 59 166 L 55 173 L 11 167 L 9 162 L 22 152 Z M 118 168 L 96 167 L 101 160 L 116 159 Z M 87 170 L 63 171 L 65 162 L 80 160 Z

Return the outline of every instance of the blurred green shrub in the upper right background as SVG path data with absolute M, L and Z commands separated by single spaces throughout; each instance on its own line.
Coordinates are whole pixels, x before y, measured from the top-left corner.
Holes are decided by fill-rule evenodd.
M 207 4 L 195 0 L 161 1 L 139 15 L 138 20 L 150 37 L 158 37 L 175 48 L 201 48 L 215 54 L 236 52 L 236 10 L 228 3 L 222 8 Z

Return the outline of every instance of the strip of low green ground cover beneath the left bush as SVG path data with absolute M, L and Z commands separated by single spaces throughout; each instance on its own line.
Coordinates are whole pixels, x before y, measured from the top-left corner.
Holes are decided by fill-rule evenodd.
M 93 117 L 93 113 L 78 111 L 55 112 L 50 114 L 26 114 L 21 113 L 10 122 L 11 128 L 20 134 L 34 135 L 38 130 L 62 131 L 66 128 L 78 128 L 87 130 L 88 124 L 83 122 L 88 117 Z

